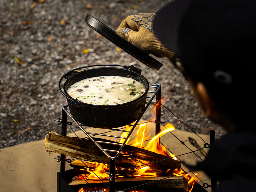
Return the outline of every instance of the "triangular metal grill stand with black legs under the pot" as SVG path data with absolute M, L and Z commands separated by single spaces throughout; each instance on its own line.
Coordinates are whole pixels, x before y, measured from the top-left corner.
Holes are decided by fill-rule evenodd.
M 155 89 L 155 91 L 150 91 L 151 89 Z M 156 106 L 156 134 L 160 132 L 160 118 L 161 118 L 161 109 L 160 109 L 160 104 L 161 104 L 161 85 L 160 84 L 152 84 L 149 85 L 149 91 L 148 93 L 153 94 L 152 96 L 147 95 L 147 98 L 149 99 L 149 101 L 146 102 L 146 106 L 145 109 L 143 111 L 143 114 L 145 113 L 145 111 L 147 110 L 148 106 L 151 103 L 158 103 L 158 105 Z M 156 97 L 156 102 L 152 102 L 153 99 Z M 129 124 L 129 126 L 132 126 L 131 131 L 126 131 L 123 129 L 116 129 L 116 128 L 112 128 L 112 129 L 108 129 L 108 130 L 112 130 L 112 131 L 118 131 L 118 132 L 128 132 L 127 137 L 121 137 L 121 136 L 115 136 L 115 135 L 106 135 L 106 134 L 99 134 L 99 133 L 92 133 L 92 132 L 86 132 L 85 129 L 83 128 L 84 125 L 83 124 L 79 124 L 73 117 L 72 115 L 69 113 L 69 109 L 68 109 L 68 105 L 64 105 L 62 107 L 62 116 L 60 120 L 55 120 L 58 121 L 59 124 L 61 124 L 61 135 L 62 136 L 66 136 L 67 135 L 67 116 L 69 116 L 74 123 L 76 123 L 76 125 L 86 134 L 86 136 L 88 138 L 90 138 L 90 140 L 98 147 L 100 148 L 100 150 L 109 158 L 109 192 L 115 192 L 115 159 L 118 157 L 118 155 L 120 154 L 120 152 L 122 151 L 126 141 L 129 139 L 129 137 L 131 136 L 133 130 L 135 129 L 136 125 L 139 123 L 140 118 L 135 122 L 135 124 Z M 143 116 L 143 115 L 142 115 Z M 114 138 L 119 138 L 119 139 L 124 139 L 123 143 L 117 143 L 117 142 L 105 142 L 105 141 L 98 141 L 95 140 L 92 135 L 99 135 L 99 136 L 107 136 L 107 137 L 114 137 Z M 120 146 L 119 150 L 110 150 L 110 149 L 104 149 L 100 146 L 101 143 L 107 143 L 108 145 L 118 145 Z M 114 153 L 115 155 L 111 156 L 109 154 L 109 152 Z M 60 176 L 58 175 L 58 192 L 64 192 L 66 191 L 66 186 L 67 183 L 64 182 L 63 179 L 65 179 L 66 177 L 66 155 L 61 154 L 60 155 Z M 62 178 L 59 178 L 62 177 Z M 64 185 L 61 185 L 61 183 L 64 182 Z M 63 187 L 63 188 L 62 188 Z M 64 189 L 64 190 L 63 190 Z

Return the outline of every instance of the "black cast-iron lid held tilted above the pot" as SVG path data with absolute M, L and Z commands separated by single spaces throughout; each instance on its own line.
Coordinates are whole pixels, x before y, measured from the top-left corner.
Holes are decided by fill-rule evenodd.
M 92 17 L 90 14 L 87 14 L 84 20 L 89 27 L 93 30 L 98 32 L 100 35 L 111 41 L 112 43 L 116 44 L 118 47 L 123 49 L 125 52 L 132 55 L 134 58 L 139 60 L 140 62 L 144 63 L 148 67 L 152 69 L 159 70 L 163 64 L 156 60 L 155 58 L 151 57 L 147 53 L 141 51 L 139 48 L 134 46 L 133 44 L 126 41 L 121 36 L 117 35 L 114 30 L 109 28 L 108 26 L 101 23 L 99 20 Z

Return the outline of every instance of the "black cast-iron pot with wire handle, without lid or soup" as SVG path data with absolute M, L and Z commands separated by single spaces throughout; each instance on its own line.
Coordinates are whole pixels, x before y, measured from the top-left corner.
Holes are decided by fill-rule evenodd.
M 98 66 L 101 66 L 98 68 Z M 103 67 L 102 67 L 103 66 Z M 111 67 L 106 67 L 111 66 Z M 115 66 L 115 67 L 112 67 Z M 85 69 L 78 72 L 82 68 L 97 67 Z M 118 68 L 122 67 L 122 68 Z M 81 68 L 76 68 L 61 77 L 59 82 L 59 89 L 62 95 L 67 98 L 68 108 L 70 114 L 79 123 L 95 128 L 116 128 L 131 124 L 138 120 L 144 113 L 145 104 L 149 89 L 148 80 L 142 76 L 141 69 L 133 66 L 124 65 L 93 65 Z M 96 76 L 123 76 L 130 77 L 142 83 L 146 87 L 146 92 L 138 99 L 119 104 L 119 105 L 92 105 L 75 100 L 67 93 L 68 87 L 80 80 L 96 77 Z M 62 79 L 67 79 L 64 83 L 63 90 L 61 90 Z

